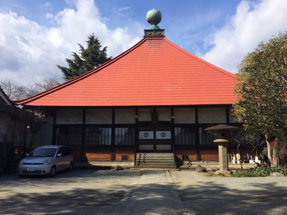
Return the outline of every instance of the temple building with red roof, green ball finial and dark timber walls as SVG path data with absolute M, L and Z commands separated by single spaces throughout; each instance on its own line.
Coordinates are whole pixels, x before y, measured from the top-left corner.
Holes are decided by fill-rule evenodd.
M 231 114 L 236 75 L 173 44 L 158 10 L 130 49 L 35 96 L 14 101 L 49 113 L 42 145 L 69 145 L 75 160 L 134 160 L 139 152 L 177 160 L 218 160 L 205 128 L 241 126 Z

